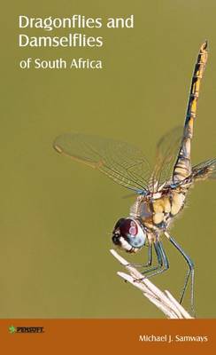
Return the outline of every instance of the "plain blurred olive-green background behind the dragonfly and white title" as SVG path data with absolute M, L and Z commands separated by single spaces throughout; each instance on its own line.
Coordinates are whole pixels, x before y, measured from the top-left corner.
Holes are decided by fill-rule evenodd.
M 135 15 L 134 29 L 85 30 L 103 48 L 19 48 L 19 14 Z M 151 160 L 158 139 L 183 123 L 197 51 L 210 56 L 198 104 L 193 162 L 216 155 L 215 1 L 7 2 L 1 19 L 0 317 L 160 318 L 116 275 L 112 227 L 127 190 L 52 148 L 66 131 L 120 138 Z M 28 30 L 64 36 L 69 30 Z M 78 32 L 78 31 L 77 31 Z M 93 35 L 93 36 L 94 36 Z M 103 70 L 21 70 L 27 57 L 98 58 Z M 215 181 L 197 184 L 172 233 L 196 264 L 197 317 L 216 316 Z M 178 297 L 186 265 L 165 241 L 171 268 L 153 281 Z M 133 260 L 145 260 L 147 250 Z M 126 254 L 124 256 L 127 257 Z M 189 307 L 189 292 L 184 305 Z

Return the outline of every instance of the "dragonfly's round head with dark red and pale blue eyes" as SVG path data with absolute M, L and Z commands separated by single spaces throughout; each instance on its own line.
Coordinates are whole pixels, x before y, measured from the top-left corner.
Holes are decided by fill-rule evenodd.
M 146 233 L 135 218 L 120 218 L 114 226 L 112 241 L 127 253 L 135 253 L 145 245 Z

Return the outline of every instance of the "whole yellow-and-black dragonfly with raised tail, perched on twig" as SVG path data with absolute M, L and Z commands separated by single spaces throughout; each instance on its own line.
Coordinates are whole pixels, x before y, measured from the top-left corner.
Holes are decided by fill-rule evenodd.
M 133 265 L 143 268 L 143 278 L 150 278 L 169 268 L 161 241 L 166 237 L 187 263 L 180 304 L 190 281 L 190 306 L 193 312 L 194 263 L 171 235 L 170 228 L 185 206 L 189 189 L 199 180 L 216 178 L 216 158 L 193 166 L 190 157 L 197 99 L 207 56 L 205 41 L 198 52 L 190 84 L 184 126 L 168 131 L 158 141 L 153 169 L 142 150 L 120 140 L 66 133 L 56 138 L 53 144 L 58 153 L 101 171 L 114 182 L 136 193 L 128 216 L 119 218 L 114 225 L 112 242 L 127 253 L 136 253 L 147 247 L 147 263 Z M 153 263 L 154 257 L 156 263 Z

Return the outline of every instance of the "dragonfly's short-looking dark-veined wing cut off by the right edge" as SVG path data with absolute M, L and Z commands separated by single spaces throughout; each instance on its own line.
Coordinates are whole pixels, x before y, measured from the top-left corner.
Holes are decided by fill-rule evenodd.
M 200 162 L 192 168 L 192 174 L 197 180 L 206 178 L 216 178 L 216 159 L 209 159 L 205 162 Z

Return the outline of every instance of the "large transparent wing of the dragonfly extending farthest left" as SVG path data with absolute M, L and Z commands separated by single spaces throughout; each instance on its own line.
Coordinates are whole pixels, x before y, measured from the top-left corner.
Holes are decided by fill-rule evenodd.
M 148 189 L 150 164 L 135 146 L 109 138 L 66 133 L 55 139 L 54 148 L 100 170 L 128 189 L 138 193 Z

